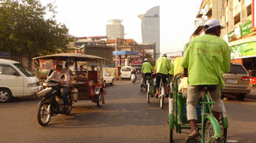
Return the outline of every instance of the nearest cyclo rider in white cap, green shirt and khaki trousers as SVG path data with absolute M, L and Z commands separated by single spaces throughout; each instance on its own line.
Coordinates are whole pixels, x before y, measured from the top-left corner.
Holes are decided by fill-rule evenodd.
M 196 106 L 200 98 L 200 85 L 213 85 L 215 90 L 210 92 L 213 116 L 218 119 L 221 113 L 221 86 L 224 87 L 222 74 L 230 71 L 230 49 L 221 35 L 221 26 L 218 20 L 211 19 L 205 24 L 206 35 L 193 38 L 187 47 L 181 65 L 184 75 L 188 71 L 187 86 L 187 120 L 191 124 L 191 134 L 186 138 L 189 142 L 199 136 L 195 122 L 197 120 Z

